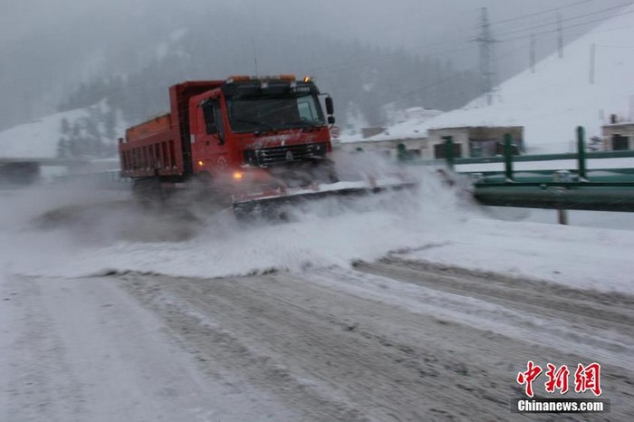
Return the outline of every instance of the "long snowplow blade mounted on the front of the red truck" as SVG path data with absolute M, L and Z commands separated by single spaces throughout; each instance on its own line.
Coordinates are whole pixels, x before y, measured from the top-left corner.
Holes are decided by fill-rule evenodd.
M 413 180 L 383 179 L 341 181 L 311 187 L 277 188 L 273 191 L 234 197 L 233 209 L 238 218 L 278 216 L 281 206 L 294 205 L 324 197 L 362 196 L 418 186 Z

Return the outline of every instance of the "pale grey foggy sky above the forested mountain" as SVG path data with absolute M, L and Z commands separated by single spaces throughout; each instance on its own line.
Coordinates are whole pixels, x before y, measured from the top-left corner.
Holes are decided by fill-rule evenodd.
M 175 26 L 187 25 L 190 17 L 202 12 L 212 12 L 209 33 L 213 39 L 214 14 L 217 12 L 217 19 L 222 20 L 227 10 L 248 18 L 245 22 L 249 24 L 236 24 L 236 38 L 251 37 L 256 43 L 266 43 L 267 34 L 284 28 L 289 34 L 318 33 L 334 40 L 403 48 L 474 69 L 478 64 L 478 45 L 474 40 L 479 31 L 480 9 L 487 7 L 492 32 L 499 41 L 494 45 L 495 57 L 499 58 L 495 70 L 501 82 L 528 66 L 526 51 L 531 33 L 537 34 L 538 57 L 555 50 L 557 11 L 540 12 L 573 5 L 559 11 L 564 19 L 564 42 L 568 43 L 599 23 L 577 24 L 618 11 L 592 13 L 627 3 L 628 0 L 0 0 L 0 63 L 5 64 L 0 72 L 0 92 L 7 94 L 5 91 L 10 88 L 13 93 L 16 85 L 23 83 L 41 86 L 42 107 L 24 112 L 37 115 L 50 110 L 69 84 L 94 76 L 90 72 L 95 71 L 95 66 L 87 67 L 87 62 L 99 63 L 98 56 L 104 50 L 133 42 L 159 43 Z M 572 19 L 580 14 L 589 15 Z M 524 17 L 514 19 L 521 16 Z M 543 24 L 549 26 L 540 27 Z M 551 32 L 545 34 L 548 31 Z M 9 65 L 5 57 L 11 57 Z M 47 68 L 61 60 L 68 66 Z M 40 67 L 45 73 L 34 76 L 31 71 L 26 77 L 25 67 Z M 31 95 L 30 92 L 24 90 L 24 95 Z M 6 109 L 0 107 L 0 112 Z

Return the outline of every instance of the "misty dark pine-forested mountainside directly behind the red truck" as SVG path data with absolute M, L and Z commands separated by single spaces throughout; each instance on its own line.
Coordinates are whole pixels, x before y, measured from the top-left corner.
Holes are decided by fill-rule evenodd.
M 101 135 L 105 139 L 115 139 L 116 134 L 112 136 L 112 132 L 117 118 L 139 122 L 167 111 L 167 90 L 171 84 L 223 78 L 251 66 L 251 61 L 243 63 L 237 57 L 223 60 L 228 57 L 229 49 L 223 43 L 203 42 L 207 40 L 206 32 L 207 26 L 192 27 L 189 37 L 192 42 L 178 45 L 178 57 L 175 57 L 177 53 L 169 52 L 126 77 L 113 76 L 82 83 L 67 101 L 63 101 L 63 107 L 87 107 L 105 98 L 109 109 L 118 110 L 120 116 L 109 116 L 110 111 L 104 112 L 103 120 L 99 121 L 103 125 Z M 288 49 L 280 49 L 276 43 L 258 45 L 258 55 L 266 58 L 262 62 L 276 63 L 274 70 L 269 66 L 260 69 L 261 73 L 287 69 L 298 75 L 312 74 L 318 79 L 321 90 L 331 93 L 336 103 L 341 104 L 338 110 L 345 110 L 349 103 L 359 104 L 364 119 L 373 125 L 385 123 L 386 115 L 382 109 L 389 103 L 398 109 L 422 106 L 451 110 L 477 96 L 476 74 L 461 72 L 451 62 L 443 63 L 424 56 L 421 59 L 403 50 L 381 49 L 359 42 L 302 41 L 297 39 L 297 45 L 292 45 L 296 47 L 292 57 L 285 53 Z M 200 51 L 206 53 L 200 54 Z M 245 72 L 251 70 L 249 67 Z M 373 89 L 364 91 L 364 85 L 373 85 Z M 337 119 L 345 126 L 345 113 Z

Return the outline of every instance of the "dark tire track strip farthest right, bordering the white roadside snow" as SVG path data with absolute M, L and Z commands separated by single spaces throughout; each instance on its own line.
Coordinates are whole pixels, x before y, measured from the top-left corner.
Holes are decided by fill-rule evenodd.
M 384 259 L 376 263 L 358 263 L 356 269 L 410 283 L 438 292 L 514 310 L 529 319 L 542 320 L 543 332 L 561 337 L 552 346 L 577 343 L 578 349 L 601 353 L 610 363 L 623 368 L 634 366 L 634 297 L 624 293 L 581 291 L 553 283 L 524 280 L 493 273 L 477 273 L 442 265 Z M 545 340 L 545 338 L 543 338 Z M 587 343 L 586 348 L 582 348 Z

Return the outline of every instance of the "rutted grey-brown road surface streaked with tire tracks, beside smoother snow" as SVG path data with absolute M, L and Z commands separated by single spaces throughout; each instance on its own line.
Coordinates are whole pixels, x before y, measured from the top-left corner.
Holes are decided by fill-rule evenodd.
M 118 280 L 207 373 L 231 368 L 305 420 L 510 419 L 527 360 L 599 360 L 610 419 L 634 417 L 630 296 L 402 262 Z

